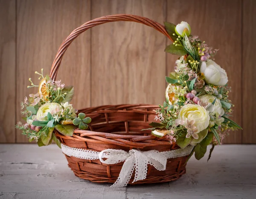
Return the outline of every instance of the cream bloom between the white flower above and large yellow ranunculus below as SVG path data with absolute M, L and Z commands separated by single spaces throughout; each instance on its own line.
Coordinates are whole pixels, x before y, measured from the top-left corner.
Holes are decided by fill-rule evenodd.
M 215 100 L 215 96 L 213 95 L 202 95 L 199 97 L 201 103 L 205 103 L 205 104 L 212 104 L 212 102 Z M 212 110 L 209 110 L 210 115 L 215 115 L 215 113 L 217 113 L 218 115 L 222 116 L 224 114 L 224 110 L 222 108 L 221 105 L 221 101 L 216 98 L 215 103 L 212 105 Z

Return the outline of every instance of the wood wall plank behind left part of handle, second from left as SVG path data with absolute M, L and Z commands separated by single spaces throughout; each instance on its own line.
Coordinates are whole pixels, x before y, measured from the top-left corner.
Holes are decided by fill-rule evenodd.
M 17 5 L 17 104 L 37 89 L 27 89 L 28 78 L 37 82 L 35 70 L 49 74 L 61 42 L 73 29 L 90 20 L 90 1 L 23 0 Z M 65 54 L 58 79 L 74 85 L 74 107 L 89 106 L 90 33 L 81 35 Z M 79 93 L 79 94 L 78 94 Z M 17 111 L 17 118 L 20 118 Z M 17 142 L 27 142 L 17 130 Z

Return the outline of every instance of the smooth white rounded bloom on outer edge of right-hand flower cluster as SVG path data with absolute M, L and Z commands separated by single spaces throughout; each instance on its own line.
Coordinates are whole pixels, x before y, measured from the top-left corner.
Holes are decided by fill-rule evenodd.
M 227 84 L 227 73 L 215 61 L 208 59 L 200 64 L 200 72 L 204 73 L 205 80 L 215 86 L 224 86 Z

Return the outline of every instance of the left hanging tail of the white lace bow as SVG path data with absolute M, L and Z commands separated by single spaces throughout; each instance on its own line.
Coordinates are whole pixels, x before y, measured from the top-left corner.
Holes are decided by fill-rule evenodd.
M 119 177 L 116 182 L 111 185 L 111 187 L 125 187 L 131 179 L 131 175 L 134 172 L 135 168 L 135 158 L 134 156 L 128 157 L 125 160 L 125 163 L 122 166 L 122 169 L 119 173 Z

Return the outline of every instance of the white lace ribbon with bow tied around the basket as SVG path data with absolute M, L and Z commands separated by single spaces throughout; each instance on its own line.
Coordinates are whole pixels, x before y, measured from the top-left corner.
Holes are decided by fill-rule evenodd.
M 191 153 L 193 146 L 188 146 L 184 149 L 169 150 L 159 152 L 157 150 L 139 151 L 130 150 L 126 152 L 119 149 L 106 149 L 101 152 L 92 150 L 84 150 L 71 148 L 61 144 L 61 150 L 67 156 L 74 156 L 80 159 L 96 160 L 104 164 L 116 164 L 124 162 L 120 171 L 119 177 L 111 187 L 125 187 L 131 179 L 135 169 L 134 181 L 143 180 L 147 176 L 148 164 L 155 167 L 157 170 L 166 170 L 166 162 L 169 158 L 177 158 L 187 156 Z M 103 160 L 106 158 L 105 160 Z

